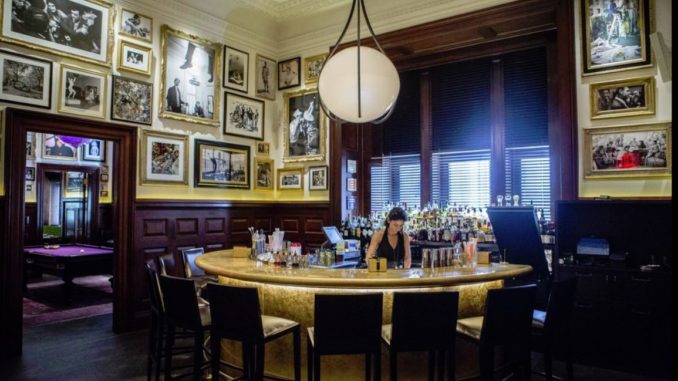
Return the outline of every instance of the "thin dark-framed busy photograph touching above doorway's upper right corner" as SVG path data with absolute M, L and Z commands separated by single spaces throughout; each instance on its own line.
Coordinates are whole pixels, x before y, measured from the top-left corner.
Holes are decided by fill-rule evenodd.
M 150 126 L 152 118 L 153 84 L 114 75 L 111 119 Z

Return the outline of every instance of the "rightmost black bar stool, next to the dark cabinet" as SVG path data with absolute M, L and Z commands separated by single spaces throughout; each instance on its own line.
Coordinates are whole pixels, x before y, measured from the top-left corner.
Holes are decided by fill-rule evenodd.
M 577 278 L 553 282 L 546 311 L 534 310 L 532 314 L 533 350 L 544 354 L 544 373 L 553 380 L 553 355 L 565 357 L 567 380 L 572 380 L 571 316 L 577 292 Z

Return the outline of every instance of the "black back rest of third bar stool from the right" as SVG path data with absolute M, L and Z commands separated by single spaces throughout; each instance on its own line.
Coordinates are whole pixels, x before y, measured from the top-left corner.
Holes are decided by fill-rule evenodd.
M 398 351 L 454 346 L 458 309 L 456 291 L 394 293 L 391 346 Z

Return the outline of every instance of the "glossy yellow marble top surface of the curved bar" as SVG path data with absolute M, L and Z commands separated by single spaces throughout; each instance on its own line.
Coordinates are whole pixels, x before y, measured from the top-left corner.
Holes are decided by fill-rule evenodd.
M 274 266 L 248 258 L 233 258 L 231 250 L 206 253 L 199 256 L 195 263 L 209 274 L 242 281 L 339 288 L 454 286 L 502 280 L 532 271 L 532 267 L 528 265 L 496 263 L 478 265 L 475 269 L 412 268 L 372 273 L 367 269 L 298 268 Z

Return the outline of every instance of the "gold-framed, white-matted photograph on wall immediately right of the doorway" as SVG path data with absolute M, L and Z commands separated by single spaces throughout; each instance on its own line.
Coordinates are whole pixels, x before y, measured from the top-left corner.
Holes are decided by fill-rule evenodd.
M 141 183 L 188 185 L 188 136 L 143 130 Z

